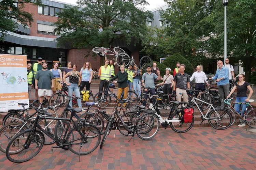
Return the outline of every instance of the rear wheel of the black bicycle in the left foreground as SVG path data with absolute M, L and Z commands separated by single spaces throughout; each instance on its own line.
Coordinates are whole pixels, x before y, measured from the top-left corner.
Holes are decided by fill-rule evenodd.
M 71 129 L 67 136 L 68 148 L 77 155 L 86 155 L 93 152 L 100 144 L 100 132 L 97 127 L 90 124 L 81 124 Z M 83 136 L 81 136 L 82 134 Z

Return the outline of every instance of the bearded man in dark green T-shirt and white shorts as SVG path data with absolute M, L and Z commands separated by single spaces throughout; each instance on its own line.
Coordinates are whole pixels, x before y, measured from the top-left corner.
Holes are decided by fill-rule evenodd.
M 53 94 L 54 76 L 51 71 L 47 69 L 48 63 L 42 63 L 42 69 L 35 75 L 35 89 L 38 90 L 39 103 L 43 103 L 44 95 L 48 101 Z

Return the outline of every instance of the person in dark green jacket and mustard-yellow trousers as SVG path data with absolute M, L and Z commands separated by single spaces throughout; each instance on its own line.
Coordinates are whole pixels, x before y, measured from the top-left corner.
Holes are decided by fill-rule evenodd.
M 113 81 L 116 78 L 118 78 L 117 81 Z M 127 93 L 128 93 L 128 82 L 127 82 L 127 78 L 128 78 L 128 73 L 125 72 L 125 66 L 124 65 L 120 65 L 120 71 L 117 73 L 117 75 L 115 75 L 113 78 L 111 78 L 109 81 L 113 81 L 113 83 L 118 82 L 118 91 L 117 91 L 117 98 L 120 99 L 121 94 L 124 91 L 124 99 L 127 98 Z M 124 104 L 125 106 L 126 104 Z M 120 106 L 120 104 L 118 104 L 118 106 Z

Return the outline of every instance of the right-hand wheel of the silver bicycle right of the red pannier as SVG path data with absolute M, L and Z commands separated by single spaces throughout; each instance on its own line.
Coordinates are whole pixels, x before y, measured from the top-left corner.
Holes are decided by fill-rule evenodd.
M 226 110 L 221 108 L 215 108 L 216 112 L 210 111 L 208 115 L 209 124 L 218 130 L 223 130 L 228 128 L 232 123 L 232 115 Z

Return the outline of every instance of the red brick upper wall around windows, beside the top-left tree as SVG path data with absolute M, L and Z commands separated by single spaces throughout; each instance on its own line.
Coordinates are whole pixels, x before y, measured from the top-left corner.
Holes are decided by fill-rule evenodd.
M 38 14 L 38 6 L 34 6 L 32 4 L 26 4 L 26 6 L 24 7 L 24 11 L 33 14 L 34 22 L 32 22 L 31 26 L 29 26 L 31 36 L 56 38 L 56 35 L 38 34 L 37 33 L 37 21 L 39 20 L 39 21 L 46 21 L 46 22 L 53 22 L 54 23 L 58 20 L 58 17 Z

